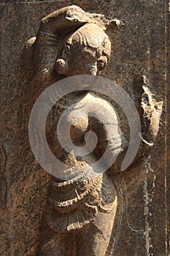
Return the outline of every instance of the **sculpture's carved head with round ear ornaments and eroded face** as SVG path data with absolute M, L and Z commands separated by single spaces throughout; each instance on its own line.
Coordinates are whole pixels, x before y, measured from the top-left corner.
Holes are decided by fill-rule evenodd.
M 107 34 L 98 25 L 88 23 L 66 40 L 55 69 L 66 76 L 101 75 L 110 53 L 111 42 Z

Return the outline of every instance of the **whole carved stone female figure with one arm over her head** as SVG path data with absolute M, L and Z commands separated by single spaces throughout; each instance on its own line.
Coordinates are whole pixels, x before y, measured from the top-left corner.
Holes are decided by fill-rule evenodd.
M 102 75 L 111 54 L 111 42 L 104 32 L 109 22 L 103 15 L 84 12 L 77 6 L 65 7 L 43 18 L 36 40 L 28 42 L 34 43 L 35 75 L 31 93 L 35 93 L 35 85 L 39 87 L 36 87 L 38 95 L 57 80 L 72 75 Z M 151 92 L 146 87 L 143 89 L 144 119 L 139 155 L 152 145 L 157 135 L 162 108 L 162 102 L 155 102 Z M 93 108 L 93 118 L 89 114 L 89 105 Z M 108 116 L 102 110 L 98 113 L 101 109 L 98 105 L 107 109 Z M 98 144 L 92 154 L 76 157 L 66 153 L 58 142 L 56 126 L 67 108 L 72 113 L 66 121 L 72 124 L 71 138 L 75 144 L 84 145 L 88 130 L 98 136 Z M 86 116 L 74 121 L 77 109 L 80 112 L 86 110 Z M 107 129 L 102 122 L 106 118 Z M 51 176 L 39 255 L 111 255 L 119 204 L 116 173 L 119 173 L 127 147 L 115 108 L 90 91 L 74 92 L 56 103 L 47 118 L 46 128 L 53 154 L 67 165 L 88 168 L 91 162 L 104 154 L 107 143 L 110 144 L 111 157 L 112 154 L 120 156 L 114 167 L 91 179 L 62 181 Z

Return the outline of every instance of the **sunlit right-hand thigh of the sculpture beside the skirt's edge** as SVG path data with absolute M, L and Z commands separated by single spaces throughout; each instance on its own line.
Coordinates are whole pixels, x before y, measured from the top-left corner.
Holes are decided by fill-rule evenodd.
M 77 234 L 77 256 L 104 256 L 115 220 L 115 209 L 99 213 L 93 223 Z

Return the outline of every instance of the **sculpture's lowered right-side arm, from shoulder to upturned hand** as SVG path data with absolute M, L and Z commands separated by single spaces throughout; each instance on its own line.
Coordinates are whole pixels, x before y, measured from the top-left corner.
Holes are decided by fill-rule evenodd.
M 163 102 L 156 102 L 155 99 L 152 98 L 150 89 L 148 89 L 147 86 L 143 86 L 143 90 L 141 100 L 143 112 L 141 120 L 142 132 L 141 135 L 139 134 L 141 143 L 136 157 L 131 164 L 136 162 L 139 157 L 142 157 L 153 145 L 158 134 L 162 113 Z M 93 103 L 91 104 L 90 109 L 93 109 L 93 117 L 90 118 L 89 126 L 90 129 L 98 135 L 98 150 L 102 155 L 108 145 L 109 154 L 106 156 L 106 162 L 114 162 L 115 155 L 118 154 L 114 164 L 109 168 L 109 173 L 120 172 L 123 159 L 128 149 L 128 142 L 121 135 L 116 113 L 108 103 L 103 104 L 104 112 L 102 112 L 102 108 L 98 106 L 98 102 L 95 104 L 95 99 L 93 99 Z M 96 106 L 98 107 L 96 108 Z

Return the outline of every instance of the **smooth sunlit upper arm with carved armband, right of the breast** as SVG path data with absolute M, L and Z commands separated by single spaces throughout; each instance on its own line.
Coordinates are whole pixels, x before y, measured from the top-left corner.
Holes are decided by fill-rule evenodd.
M 93 97 L 88 107 L 89 127 L 98 137 L 95 152 L 98 158 L 104 155 L 105 165 L 110 166 L 125 148 L 125 139 L 120 131 L 117 113 L 112 105 L 99 97 Z

